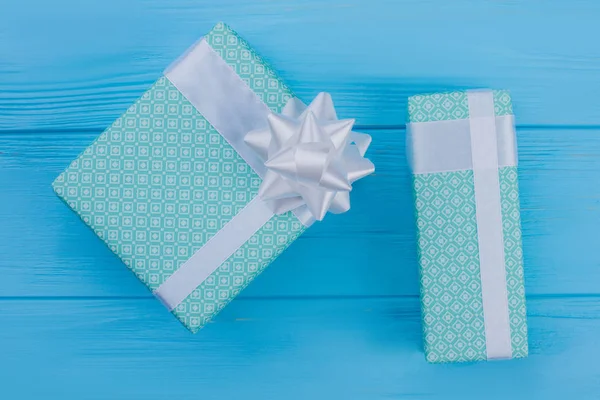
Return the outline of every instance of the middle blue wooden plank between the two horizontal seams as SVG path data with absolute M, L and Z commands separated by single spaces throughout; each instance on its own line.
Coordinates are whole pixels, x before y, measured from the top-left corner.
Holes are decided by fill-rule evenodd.
M 369 132 L 377 172 L 358 183 L 353 209 L 311 228 L 243 296 L 418 293 L 404 132 Z M 600 174 L 598 133 L 519 132 L 531 294 L 599 293 L 591 251 L 600 225 L 600 187 L 592 184 Z M 50 188 L 97 134 L 0 135 L 0 296 L 149 296 Z

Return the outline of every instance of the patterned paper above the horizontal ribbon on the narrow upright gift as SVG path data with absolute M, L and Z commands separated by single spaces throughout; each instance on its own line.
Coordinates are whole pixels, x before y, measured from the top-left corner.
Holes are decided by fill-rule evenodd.
M 507 90 L 493 90 L 494 114 L 512 115 L 512 101 Z M 416 95 L 408 98 L 409 122 L 448 121 L 469 118 L 467 92 L 457 91 Z

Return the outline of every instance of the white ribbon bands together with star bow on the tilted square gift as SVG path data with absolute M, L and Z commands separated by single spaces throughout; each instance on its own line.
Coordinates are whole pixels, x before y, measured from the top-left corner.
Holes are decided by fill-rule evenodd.
M 374 167 L 363 158 L 370 136 L 352 132 L 353 120 L 338 121 L 329 95 L 308 107 L 292 99 L 272 114 L 205 39 L 165 77 L 264 179 L 260 195 L 154 291 L 173 310 L 273 215 L 291 210 L 310 226 L 327 211 L 347 211 L 350 185 Z

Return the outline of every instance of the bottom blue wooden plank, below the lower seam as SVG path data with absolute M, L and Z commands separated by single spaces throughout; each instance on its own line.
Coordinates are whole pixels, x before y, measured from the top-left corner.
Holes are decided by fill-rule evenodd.
M 0 390 L 7 399 L 597 399 L 599 299 L 528 306 L 528 359 L 430 365 L 416 299 L 235 300 L 197 335 L 154 301 L 0 301 Z

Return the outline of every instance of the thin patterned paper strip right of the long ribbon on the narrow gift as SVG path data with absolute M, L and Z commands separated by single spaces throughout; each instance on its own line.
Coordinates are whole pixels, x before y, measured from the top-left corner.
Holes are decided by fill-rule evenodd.
M 499 174 L 512 353 L 520 358 L 527 357 L 528 345 L 517 167 L 500 168 Z

